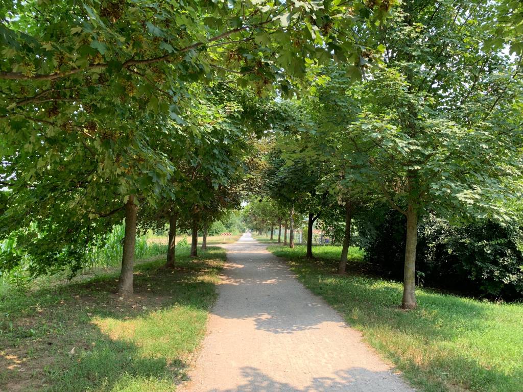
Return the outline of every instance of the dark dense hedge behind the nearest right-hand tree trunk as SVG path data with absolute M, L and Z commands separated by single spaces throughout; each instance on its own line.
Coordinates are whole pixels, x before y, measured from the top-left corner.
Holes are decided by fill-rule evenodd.
M 405 218 L 388 211 L 369 220 L 361 245 L 367 260 L 401 280 Z M 363 225 L 365 226 L 365 225 Z M 363 233 L 360 233 L 360 235 Z M 377 235 L 379 234 L 379 235 Z M 451 225 L 433 215 L 418 226 L 418 284 L 507 301 L 523 298 L 521 232 L 492 221 Z

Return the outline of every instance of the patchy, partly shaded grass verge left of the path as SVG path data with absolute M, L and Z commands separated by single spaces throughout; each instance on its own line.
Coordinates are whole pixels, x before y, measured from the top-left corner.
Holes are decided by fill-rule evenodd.
M 204 335 L 225 251 L 139 263 L 133 298 L 117 272 L 0 298 L 0 390 L 173 391 Z

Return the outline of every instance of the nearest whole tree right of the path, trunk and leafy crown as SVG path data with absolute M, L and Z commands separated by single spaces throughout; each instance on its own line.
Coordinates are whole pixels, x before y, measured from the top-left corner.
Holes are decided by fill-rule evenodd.
M 354 93 L 360 114 L 348 132 L 362 170 L 353 178 L 406 216 L 403 308 L 416 307 L 419 215 L 507 221 L 498 200 L 519 192 L 520 63 L 482 50 L 498 28 L 485 28 L 493 7 L 404 3 L 382 30 L 387 68 Z

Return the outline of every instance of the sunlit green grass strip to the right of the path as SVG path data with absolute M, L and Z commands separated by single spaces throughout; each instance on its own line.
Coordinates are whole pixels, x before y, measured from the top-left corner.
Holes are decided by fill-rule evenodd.
M 361 274 L 361 251 L 351 248 L 349 273 L 336 275 L 340 247 L 269 246 L 298 278 L 345 316 L 351 326 L 426 392 L 523 390 L 523 306 L 477 301 L 417 289 L 418 308 L 405 312 L 402 285 Z M 363 268 L 362 268 L 363 267 Z M 354 272 L 356 271 L 356 272 Z

